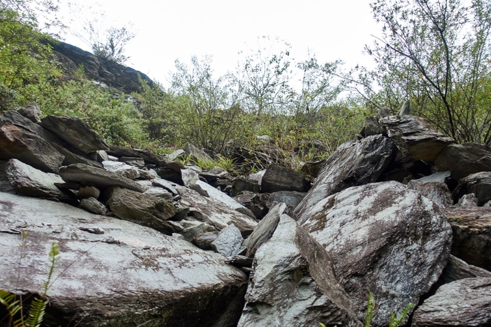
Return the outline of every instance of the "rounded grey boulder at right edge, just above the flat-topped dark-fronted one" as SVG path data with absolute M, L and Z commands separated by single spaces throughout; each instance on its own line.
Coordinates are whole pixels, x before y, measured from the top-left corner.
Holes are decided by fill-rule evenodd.
M 470 193 L 476 196 L 479 206 L 491 200 L 491 171 L 476 172 L 460 179 L 453 190 L 453 200 L 457 202 L 464 194 Z

